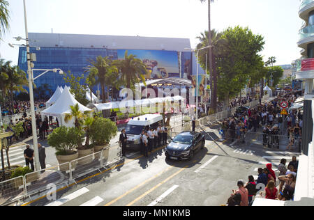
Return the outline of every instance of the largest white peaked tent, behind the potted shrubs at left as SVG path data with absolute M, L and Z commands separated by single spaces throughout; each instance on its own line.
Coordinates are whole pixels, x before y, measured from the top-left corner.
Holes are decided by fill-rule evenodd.
M 74 106 L 75 104 L 79 105 L 80 111 L 82 112 L 91 111 L 91 109 L 84 107 L 84 105 L 77 102 L 73 95 L 71 95 L 68 87 L 65 87 L 57 102 L 54 103 L 51 107 L 45 109 L 44 111 L 41 111 L 41 115 L 58 117 L 59 122 L 61 122 L 61 126 L 64 125 L 66 127 L 73 127 L 74 121 L 66 123 L 64 121 L 64 116 L 66 115 L 66 113 L 71 112 L 70 106 Z

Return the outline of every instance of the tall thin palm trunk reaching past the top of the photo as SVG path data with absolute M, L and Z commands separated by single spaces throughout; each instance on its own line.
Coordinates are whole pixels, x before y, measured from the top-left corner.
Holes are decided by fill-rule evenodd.
M 201 2 L 208 1 L 208 40 L 209 46 L 211 46 L 211 2 L 214 0 L 200 0 Z M 214 112 L 217 111 L 217 72 L 215 68 L 213 68 L 213 54 L 212 48 L 209 47 L 209 74 L 211 74 L 211 84 L 213 88 L 211 89 L 211 109 Z

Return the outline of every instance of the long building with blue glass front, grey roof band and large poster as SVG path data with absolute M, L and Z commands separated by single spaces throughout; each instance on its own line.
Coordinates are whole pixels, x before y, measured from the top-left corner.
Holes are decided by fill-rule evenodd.
M 59 33 L 29 33 L 31 53 L 36 54 L 35 69 L 59 68 L 75 76 L 84 73 L 97 56 L 113 60 L 123 59 L 124 54 L 134 54 L 147 66 L 147 79 L 189 76 L 193 74 L 193 54 L 190 40 L 186 38 L 148 38 L 140 36 L 95 36 Z M 40 50 L 36 49 L 40 47 Z M 27 51 L 20 47 L 18 65 L 27 72 Z M 40 74 L 34 72 L 34 77 Z M 54 90 L 64 86 L 59 72 L 48 72 L 35 81 L 36 86 L 49 84 Z

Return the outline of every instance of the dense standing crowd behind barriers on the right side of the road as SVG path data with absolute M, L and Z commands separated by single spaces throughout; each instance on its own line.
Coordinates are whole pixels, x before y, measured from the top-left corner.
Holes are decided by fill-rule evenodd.
M 259 133 L 262 135 L 264 146 L 279 148 L 279 142 L 288 139 L 287 150 L 299 147 L 301 143 L 301 132 L 303 124 L 303 113 L 301 109 L 292 109 L 287 116 L 281 115 L 281 102 L 286 101 L 291 106 L 296 97 L 281 93 L 271 102 L 258 104 L 257 107 L 236 111 L 230 118 L 225 118 L 221 123 L 221 134 L 223 139 L 232 141 L 246 141 L 248 134 Z M 286 123 L 287 129 L 283 126 Z

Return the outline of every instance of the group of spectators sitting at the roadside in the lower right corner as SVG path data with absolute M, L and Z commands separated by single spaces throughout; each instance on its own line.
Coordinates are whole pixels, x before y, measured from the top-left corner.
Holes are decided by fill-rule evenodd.
M 232 190 L 227 205 L 251 206 L 257 197 L 279 201 L 293 200 L 299 162 L 295 156 L 288 166 L 286 162 L 286 159 L 281 159 L 278 175 L 273 170 L 272 164 L 267 164 L 264 168 L 258 168 L 257 180 L 253 175 L 248 176 L 247 182 L 238 180 L 238 189 Z

